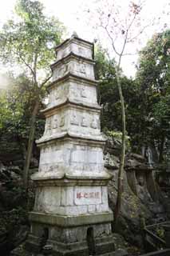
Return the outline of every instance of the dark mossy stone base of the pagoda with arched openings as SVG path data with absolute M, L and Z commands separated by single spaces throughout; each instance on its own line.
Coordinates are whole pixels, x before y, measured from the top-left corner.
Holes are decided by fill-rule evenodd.
M 53 256 L 101 255 L 114 250 L 112 213 L 73 217 L 31 213 L 30 220 L 26 250 L 34 255 L 47 245 Z

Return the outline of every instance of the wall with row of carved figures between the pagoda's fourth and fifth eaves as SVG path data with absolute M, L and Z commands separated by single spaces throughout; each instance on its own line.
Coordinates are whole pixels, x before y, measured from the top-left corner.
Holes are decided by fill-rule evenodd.
M 92 110 L 82 110 L 79 108 L 64 108 L 58 110 L 52 116 L 46 118 L 45 132 L 43 137 L 60 136 L 63 132 L 74 134 L 75 136 L 101 137 L 100 113 Z

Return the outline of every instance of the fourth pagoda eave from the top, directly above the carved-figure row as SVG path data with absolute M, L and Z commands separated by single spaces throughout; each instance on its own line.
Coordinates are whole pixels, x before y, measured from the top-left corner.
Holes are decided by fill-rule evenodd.
M 94 105 L 94 104 L 88 104 L 88 103 L 84 103 L 84 102 L 73 102 L 70 101 L 69 98 L 67 98 L 65 100 L 65 102 L 61 102 L 60 104 L 56 105 L 56 106 L 51 106 L 51 107 L 47 107 L 45 110 L 41 110 L 41 112 L 43 114 L 45 114 L 45 117 L 49 117 L 52 114 L 55 114 L 55 110 L 58 110 L 60 108 L 64 108 L 64 107 L 76 107 L 82 110 L 91 110 L 93 112 L 100 112 L 101 111 L 101 106 L 98 105 Z

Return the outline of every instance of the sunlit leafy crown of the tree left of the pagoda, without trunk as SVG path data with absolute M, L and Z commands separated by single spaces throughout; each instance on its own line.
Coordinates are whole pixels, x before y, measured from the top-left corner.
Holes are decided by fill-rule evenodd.
M 19 0 L 15 10 L 18 22 L 9 20 L 0 31 L 2 62 L 21 64 L 31 76 L 36 70 L 49 71 L 52 48 L 60 42 L 64 27 L 56 18 L 45 17 L 38 1 Z

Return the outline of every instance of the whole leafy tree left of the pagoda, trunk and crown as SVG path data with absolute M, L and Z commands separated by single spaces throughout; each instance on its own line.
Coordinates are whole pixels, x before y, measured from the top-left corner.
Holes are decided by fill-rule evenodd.
M 9 20 L 0 30 L 0 59 L 4 64 L 17 66 L 25 73 L 33 93 L 30 135 L 24 166 L 24 184 L 27 187 L 36 118 L 42 104 L 45 83 L 52 75 L 49 68 L 54 60 L 52 48 L 61 41 L 64 26 L 56 18 L 47 18 L 43 14 L 42 3 L 38 1 L 18 0 L 15 13 L 17 20 Z M 13 70 L 18 73 L 16 68 Z

